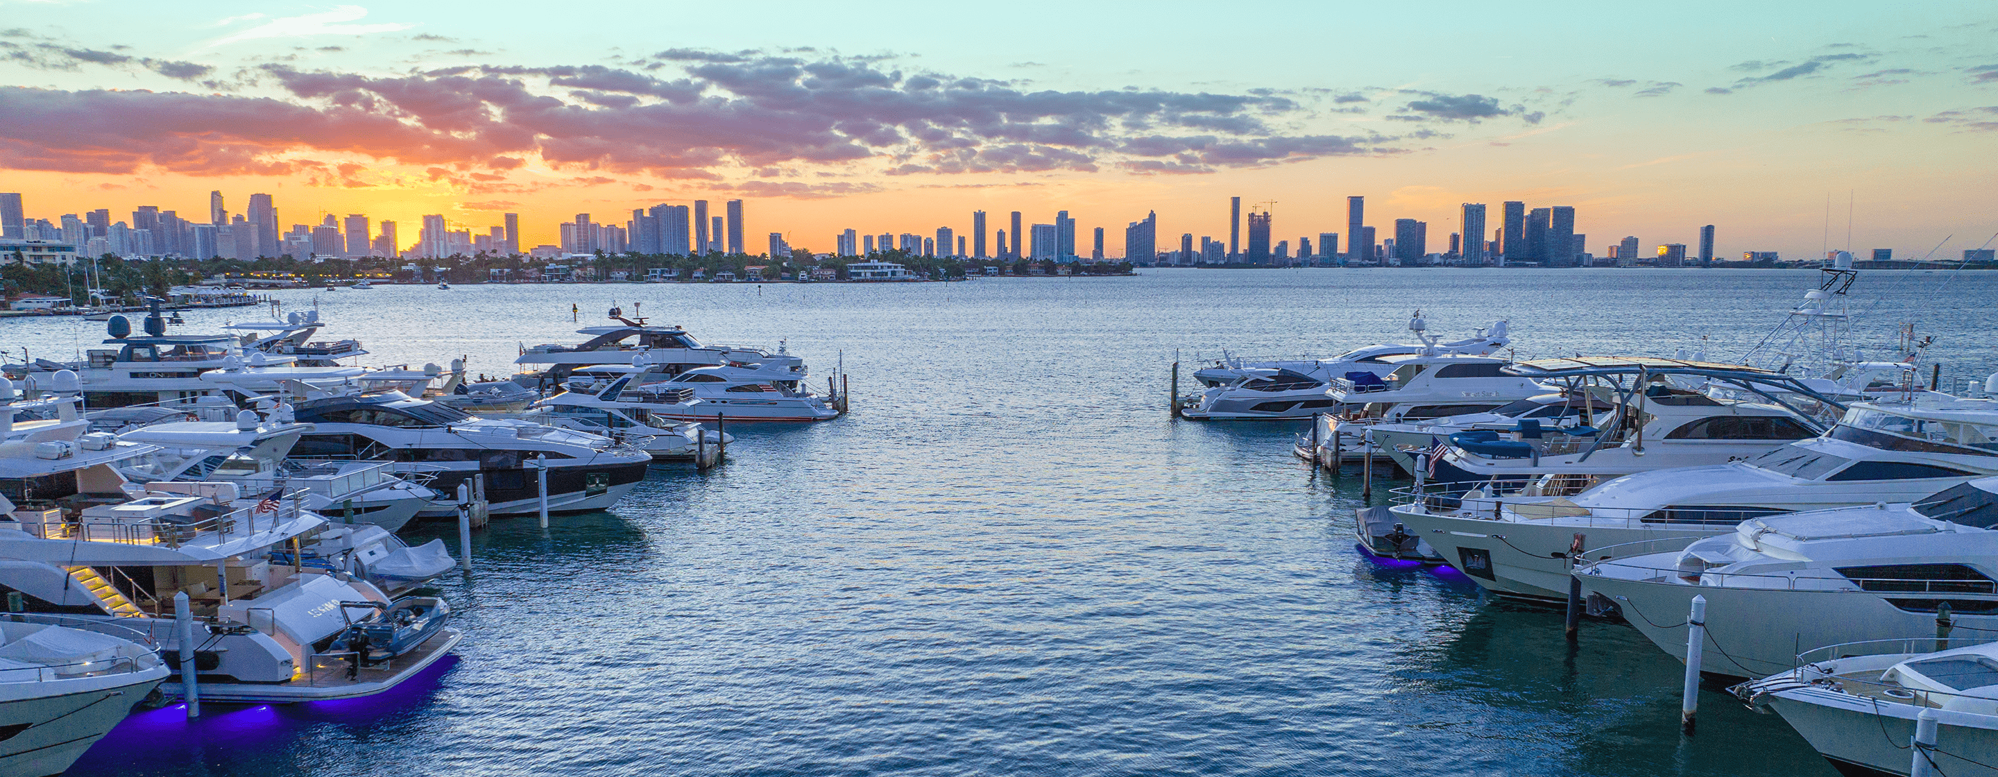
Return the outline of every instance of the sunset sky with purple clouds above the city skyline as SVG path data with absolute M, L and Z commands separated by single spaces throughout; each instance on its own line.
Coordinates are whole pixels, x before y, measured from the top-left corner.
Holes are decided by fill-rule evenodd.
M 1594 8 L 1602 6 L 1602 8 Z M 20 2 L 0 0 L 0 190 L 30 218 L 280 224 L 745 200 L 769 232 L 933 234 L 1159 214 L 1159 246 L 1574 206 L 1716 254 L 1998 234 L 1998 6 L 1986 2 Z M 1489 218 L 1489 224 L 1493 220 Z M 1848 238 L 1850 234 L 1850 238 Z M 1489 236 L 1487 236 L 1489 238 Z

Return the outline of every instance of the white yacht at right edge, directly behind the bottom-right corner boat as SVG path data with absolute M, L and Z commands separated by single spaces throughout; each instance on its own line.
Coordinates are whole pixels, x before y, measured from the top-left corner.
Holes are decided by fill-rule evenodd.
M 1596 609 L 1622 613 L 1686 655 L 1686 613 L 1706 597 L 1700 669 L 1762 677 L 1798 645 L 1998 629 L 1998 477 L 1916 503 L 1752 517 L 1680 551 L 1642 543 L 1574 569 Z M 1596 555 L 1596 553 L 1590 553 Z M 1718 645 L 1718 647 L 1716 647 Z

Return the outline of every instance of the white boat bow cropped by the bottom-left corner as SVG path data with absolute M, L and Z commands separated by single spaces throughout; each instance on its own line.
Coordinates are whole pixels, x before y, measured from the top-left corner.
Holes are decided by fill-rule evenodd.
M 0 773 L 64 773 L 166 675 L 144 631 L 10 615 L 0 621 Z

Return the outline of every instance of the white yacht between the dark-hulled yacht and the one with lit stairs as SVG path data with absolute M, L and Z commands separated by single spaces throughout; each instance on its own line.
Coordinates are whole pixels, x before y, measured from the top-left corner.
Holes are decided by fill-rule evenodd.
M 246 499 L 274 489 L 306 491 L 306 509 L 388 531 L 402 529 L 418 511 L 442 499 L 426 485 L 396 477 L 392 461 L 288 461 L 292 447 L 314 427 L 266 423 L 248 409 L 242 413 L 248 419 L 168 421 L 124 431 L 120 439 L 156 449 L 126 459 L 118 473 L 152 491 L 210 481 L 236 483 Z

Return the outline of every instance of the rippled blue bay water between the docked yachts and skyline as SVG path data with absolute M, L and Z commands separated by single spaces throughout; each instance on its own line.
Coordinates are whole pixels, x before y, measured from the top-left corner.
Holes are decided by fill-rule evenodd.
M 1832 775 L 1634 629 L 1481 599 L 1353 541 L 1303 423 L 1169 421 L 1175 350 L 1327 354 L 1512 322 L 1518 356 L 1730 358 L 1808 272 L 1149 272 L 913 286 L 280 292 L 370 364 L 511 372 L 611 302 L 697 338 L 845 352 L 853 415 L 731 425 L 723 469 L 615 513 L 496 521 L 444 595 L 460 661 L 386 699 L 134 715 L 72 775 Z M 1868 274 L 1866 332 L 1998 370 L 1998 274 Z M 569 320 L 569 306 L 583 322 Z M 188 314 L 214 332 L 252 310 Z M 0 348 L 98 324 L 0 322 Z M 1882 352 L 1884 356 L 1884 352 Z M 1191 386 L 1191 380 L 1189 380 Z M 1954 384 L 1952 384 L 1954 386 Z M 1377 495 L 1379 499 L 1379 495 Z M 418 527 L 456 545 L 456 529 Z

